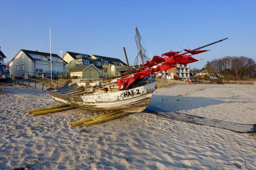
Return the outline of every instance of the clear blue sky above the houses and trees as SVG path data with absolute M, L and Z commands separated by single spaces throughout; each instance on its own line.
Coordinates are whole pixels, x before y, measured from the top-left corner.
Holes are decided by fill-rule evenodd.
M 203 61 L 243 55 L 256 60 L 256 1 L 1 1 L 0 46 L 10 61 L 20 49 L 116 57 L 132 65 L 135 26 L 151 55 L 228 37 L 195 55 Z

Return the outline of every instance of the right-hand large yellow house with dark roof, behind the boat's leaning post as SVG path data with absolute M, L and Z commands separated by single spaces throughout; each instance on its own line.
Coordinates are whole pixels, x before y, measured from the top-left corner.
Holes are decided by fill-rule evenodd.
M 123 61 L 118 58 L 105 57 L 100 55 L 92 55 L 91 62 L 93 61 L 101 61 L 102 64 L 102 72 L 101 77 L 113 76 L 121 67 L 127 66 Z

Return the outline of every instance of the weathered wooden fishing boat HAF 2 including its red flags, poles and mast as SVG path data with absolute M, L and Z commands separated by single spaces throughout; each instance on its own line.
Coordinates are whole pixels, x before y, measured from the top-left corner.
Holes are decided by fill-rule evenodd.
M 176 67 L 179 64 L 199 61 L 201 59 L 197 60 L 191 55 L 185 54 L 195 55 L 209 51 L 199 49 L 228 39 L 215 41 L 193 50 L 184 49 L 186 52 L 181 55 L 178 55 L 181 51 L 170 51 L 162 55 L 168 57 L 154 56 L 150 61 L 146 56 L 146 50 L 141 46 L 141 36 L 137 26 L 135 30 L 138 55 L 135 58 L 134 66 L 138 65 L 139 69 L 135 67 L 130 69 L 124 48 L 129 71 L 107 78 L 81 80 L 79 83 L 66 84 L 61 88 L 50 88 L 48 93 L 55 101 L 74 107 L 90 110 L 141 112 L 148 106 L 156 89 L 156 80 L 148 77 L 151 73 L 168 70 L 168 68 Z M 156 68 L 152 68 L 152 66 L 156 66 Z

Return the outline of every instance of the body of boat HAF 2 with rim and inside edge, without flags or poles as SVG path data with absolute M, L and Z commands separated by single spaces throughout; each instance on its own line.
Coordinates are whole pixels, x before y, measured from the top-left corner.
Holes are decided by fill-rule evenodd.
M 156 89 L 156 81 L 153 78 L 144 78 L 132 88 L 121 91 L 118 91 L 118 86 L 114 84 L 109 86 L 107 92 L 106 88 L 102 88 L 86 94 L 84 85 L 85 83 L 75 83 L 70 87 L 50 88 L 48 93 L 57 102 L 84 109 L 141 112 L 148 106 Z M 81 88 L 83 92 L 79 94 Z

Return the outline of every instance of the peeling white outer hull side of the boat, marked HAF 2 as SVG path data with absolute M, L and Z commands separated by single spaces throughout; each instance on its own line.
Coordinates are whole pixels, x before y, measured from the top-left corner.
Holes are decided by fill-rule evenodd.
M 58 102 L 90 110 L 141 112 L 148 106 L 155 88 L 156 82 L 152 82 L 129 90 L 95 95 L 49 94 Z

